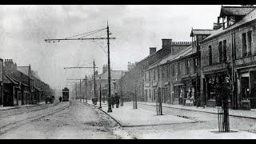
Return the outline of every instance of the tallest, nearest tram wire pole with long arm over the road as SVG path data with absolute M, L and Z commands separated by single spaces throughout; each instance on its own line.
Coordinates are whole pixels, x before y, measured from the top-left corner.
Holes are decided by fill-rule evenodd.
M 102 29 L 102 30 L 106 30 L 106 34 L 107 34 L 107 38 L 56 38 L 56 39 L 45 39 L 45 42 L 60 42 L 60 41 L 74 41 L 74 40 L 101 40 L 101 39 L 107 39 L 107 54 L 108 54 L 108 71 L 109 71 L 109 74 L 108 74 L 108 79 L 109 79 L 109 94 L 108 94 L 108 110 L 107 112 L 112 112 L 111 110 L 111 105 L 110 105 L 110 94 L 111 94 L 111 88 L 110 88 L 110 39 L 115 39 L 115 38 L 110 38 L 110 28 L 109 28 L 109 24 L 107 22 L 107 26 L 106 28 Z M 90 34 L 94 34 L 96 32 L 99 32 L 101 30 L 94 30 L 94 31 L 91 31 Z M 89 33 L 87 33 L 89 34 Z M 82 34 L 78 34 L 78 35 L 75 35 L 73 37 L 76 37 L 76 36 L 79 36 L 79 35 L 82 35 Z M 88 35 L 86 35 L 88 36 Z

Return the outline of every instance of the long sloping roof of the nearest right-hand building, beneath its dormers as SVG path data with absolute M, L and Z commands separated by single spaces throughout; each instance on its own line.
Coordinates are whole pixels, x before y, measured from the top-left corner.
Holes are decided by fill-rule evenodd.
M 242 18 L 239 22 L 234 23 L 234 25 L 232 25 L 224 30 L 222 28 L 218 29 L 218 30 L 214 30 L 213 33 L 210 34 L 210 36 L 208 36 L 204 40 L 202 40 L 202 42 L 205 42 L 206 40 L 209 40 L 210 38 L 214 38 L 215 36 L 218 36 L 219 34 L 223 34 L 226 31 L 233 30 L 234 28 L 236 28 L 238 26 L 242 26 L 243 24 L 245 24 L 247 22 L 251 22 L 255 19 L 256 19 L 256 9 L 254 8 L 254 10 L 250 11 L 250 13 L 247 14 L 244 18 Z

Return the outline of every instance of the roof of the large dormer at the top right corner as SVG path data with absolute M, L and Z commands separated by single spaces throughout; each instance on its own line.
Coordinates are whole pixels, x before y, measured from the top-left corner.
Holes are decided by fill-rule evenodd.
M 227 15 L 246 15 L 249 14 L 251 10 L 254 10 L 255 6 L 222 6 L 220 17 Z

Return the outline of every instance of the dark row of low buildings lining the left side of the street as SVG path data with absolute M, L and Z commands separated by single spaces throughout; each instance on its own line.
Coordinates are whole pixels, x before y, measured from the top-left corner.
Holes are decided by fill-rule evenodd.
M 22 66 L 23 67 L 23 66 Z M 4 62 L 4 85 L 3 103 L 4 106 L 18 106 L 36 104 L 44 101 L 46 94 L 53 95 L 50 86 L 30 74 L 30 66 L 18 67 L 12 59 Z M 37 91 L 42 90 L 41 98 Z

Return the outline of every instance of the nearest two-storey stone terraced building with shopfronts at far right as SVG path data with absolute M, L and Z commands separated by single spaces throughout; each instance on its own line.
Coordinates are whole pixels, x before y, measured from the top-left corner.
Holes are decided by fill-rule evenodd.
M 227 79 L 233 109 L 256 108 L 255 6 L 222 6 L 217 30 L 201 42 L 201 92 L 207 106 L 216 106 L 217 87 Z

